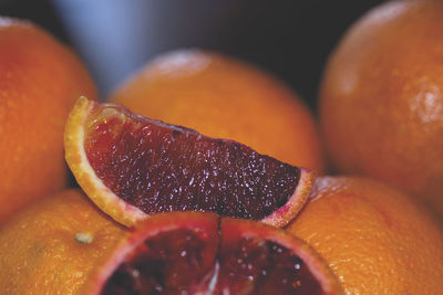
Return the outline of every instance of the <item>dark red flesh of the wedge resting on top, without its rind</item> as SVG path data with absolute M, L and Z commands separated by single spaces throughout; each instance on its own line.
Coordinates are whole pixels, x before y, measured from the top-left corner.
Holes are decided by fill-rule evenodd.
M 106 106 L 113 107 L 125 122 L 95 114 L 86 156 L 106 187 L 147 214 L 192 210 L 261 220 L 288 201 L 300 180 L 299 168 L 236 141 Z

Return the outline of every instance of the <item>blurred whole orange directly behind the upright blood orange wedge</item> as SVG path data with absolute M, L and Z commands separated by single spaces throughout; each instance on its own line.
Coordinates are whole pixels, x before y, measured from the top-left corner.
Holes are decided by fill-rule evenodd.
M 143 116 L 234 139 L 295 166 L 323 169 L 319 136 L 301 99 L 261 70 L 220 54 L 166 53 L 111 99 Z

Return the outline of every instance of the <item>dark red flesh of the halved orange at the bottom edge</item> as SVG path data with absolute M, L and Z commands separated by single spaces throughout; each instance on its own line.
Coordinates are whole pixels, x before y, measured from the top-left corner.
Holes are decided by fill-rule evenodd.
M 212 224 L 151 235 L 110 274 L 101 294 L 324 294 L 297 249 L 277 241 L 277 230 L 243 220 Z

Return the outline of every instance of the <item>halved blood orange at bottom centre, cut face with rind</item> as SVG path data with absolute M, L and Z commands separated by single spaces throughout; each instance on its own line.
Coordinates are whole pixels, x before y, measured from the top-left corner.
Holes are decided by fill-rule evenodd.
M 97 264 L 87 294 L 339 294 L 305 242 L 264 223 L 161 213 Z

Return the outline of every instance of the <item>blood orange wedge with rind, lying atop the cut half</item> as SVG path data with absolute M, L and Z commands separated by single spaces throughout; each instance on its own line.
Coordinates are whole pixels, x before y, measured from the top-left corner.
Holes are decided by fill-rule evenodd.
M 156 212 L 210 211 L 282 226 L 307 201 L 315 173 L 237 141 L 79 98 L 65 157 L 86 194 L 133 225 Z

